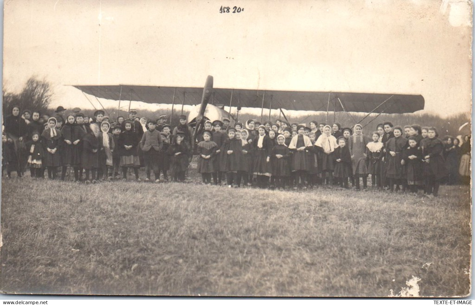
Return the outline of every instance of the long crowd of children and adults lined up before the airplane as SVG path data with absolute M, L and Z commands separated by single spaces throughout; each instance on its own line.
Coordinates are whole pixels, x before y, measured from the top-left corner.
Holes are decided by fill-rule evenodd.
M 230 126 L 225 118 L 204 122 L 194 141 L 186 116 L 172 128 L 166 115 L 147 120 L 135 109 L 115 122 L 103 110 L 93 117 L 79 108 L 66 117 L 65 111 L 58 107 L 48 117 L 12 108 L 3 126 L 2 176 L 7 170 L 9 178 L 12 171 L 22 177 L 29 167 L 35 179 L 47 170 L 48 179 L 64 180 L 73 170 L 75 181 L 98 183 L 127 180 L 129 171 L 141 180 L 139 168 L 145 167 L 145 180 L 168 181 L 170 173 L 172 180 L 184 181 L 195 153 L 202 183 L 228 187 L 350 188 L 351 183 L 359 190 L 368 188 L 371 177 L 373 188 L 423 189 L 434 197 L 441 183 L 470 182 L 470 135 L 439 138 L 436 127 L 383 122 L 363 133 L 360 124 L 342 128 L 249 119 Z

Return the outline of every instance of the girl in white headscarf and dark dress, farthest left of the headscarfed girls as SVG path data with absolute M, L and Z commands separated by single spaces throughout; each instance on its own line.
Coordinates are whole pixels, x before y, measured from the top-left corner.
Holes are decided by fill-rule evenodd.
M 48 129 L 44 130 L 41 134 L 43 144 L 46 147 L 44 161 L 48 170 L 49 179 L 56 179 L 57 168 L 61 166 L 61 152 L 59 150 L 62 134 L 61 131 L 56 128 L 56 123 L 56 118 L 50 117 L 48 119 Z

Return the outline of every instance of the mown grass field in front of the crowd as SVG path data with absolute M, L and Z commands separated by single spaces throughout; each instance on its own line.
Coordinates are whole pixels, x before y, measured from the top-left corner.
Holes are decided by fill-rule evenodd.
M 21 184 L 20 184 L 21 183 Z M 470 188 L 433 200 L 319 188 L 270 191 L 2 181 L 8 293 L 420 296 L 470 289 Z

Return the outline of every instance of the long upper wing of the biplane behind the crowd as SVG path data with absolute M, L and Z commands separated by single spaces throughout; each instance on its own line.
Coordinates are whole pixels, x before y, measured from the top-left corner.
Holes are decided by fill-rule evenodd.
M 97 98 L 159 104 L 197 105 L 200 104 L 203 94 L 203 88 L 195 87 L 139 85 L 74 85 L 74 87 Z M 209 103 L 232 107 L 367 113 L 412 113 L 424 109 L 422 95 L 226 88 L 213 88 Z

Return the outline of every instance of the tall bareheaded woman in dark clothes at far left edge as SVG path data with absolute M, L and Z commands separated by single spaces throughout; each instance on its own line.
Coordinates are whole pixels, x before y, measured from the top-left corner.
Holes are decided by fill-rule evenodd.
M 9 142 L 13 142 L 17 162 L 15 164 L 19 177 L 22 177 L 26 169 L 27 154 L 25 151 L 25 140 L 28 136 L 28 125 L 20 117 L 20 108 L 13 106 L 11 115 L 5 118 L 5 134 Z

